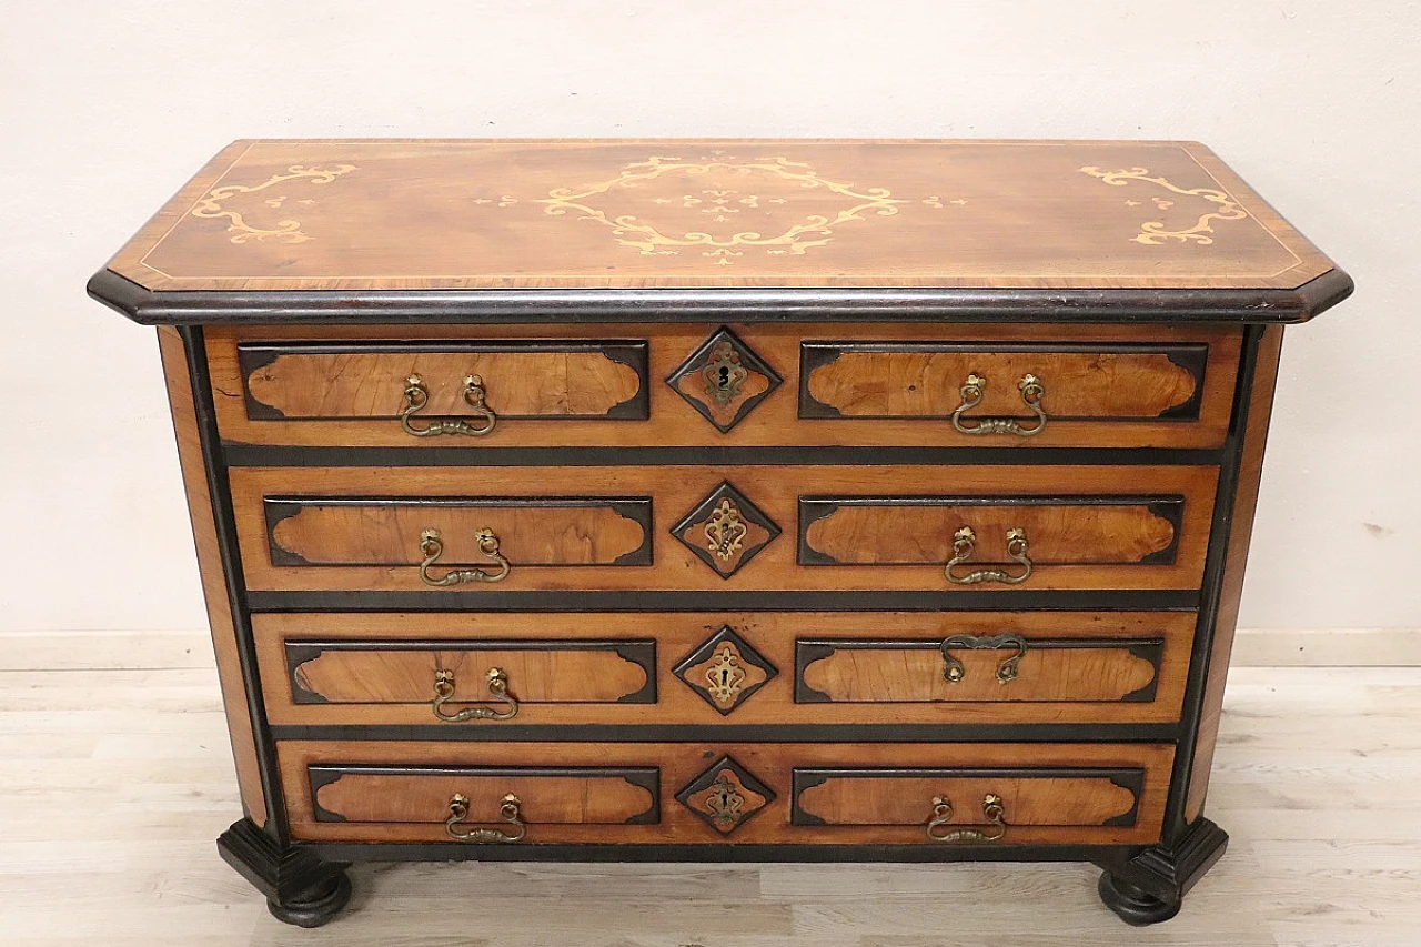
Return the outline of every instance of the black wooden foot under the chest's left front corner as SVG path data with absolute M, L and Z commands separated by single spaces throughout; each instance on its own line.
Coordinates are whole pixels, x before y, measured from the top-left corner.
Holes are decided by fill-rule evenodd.
M 323 862 L 300 847 L 283 847 L 250 819 L 217 838 L 217 852 L 266 894 L 271 916 L 297 927 L 320 927 L 351 899 L 345 865 Z

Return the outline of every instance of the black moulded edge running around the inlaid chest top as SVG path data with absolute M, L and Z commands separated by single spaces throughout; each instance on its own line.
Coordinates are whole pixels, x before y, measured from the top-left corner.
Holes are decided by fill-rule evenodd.
M 597 321 L 1304 323 L 1351 296 L 1329 270 L 1282 289 L 585 289 L 153 291 L 102 269 L 88 294 L 145 326 Z

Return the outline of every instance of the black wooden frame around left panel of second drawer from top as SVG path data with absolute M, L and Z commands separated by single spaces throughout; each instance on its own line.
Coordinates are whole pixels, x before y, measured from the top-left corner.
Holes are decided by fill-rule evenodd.
M 578 567 L 597 566 L 649 566 L 652 565 L 652 499 L 649 496 L 321 496 L 291 495 L 263 496 L 263 512 L 267 523 L 267 549 L 273 566 L 310 566 L 313 569 L 348 569 L 358 566 L 409 566 L 409 562 L 340 562 L 311 563 L 281 547 L 276 542 L 276 528 L 283 519 L 296 516 L 307 508 L 321 506 L 412 506 L 421 509 L 610 509 L 624 519 L 641 526 L 641 546 L 622 553 L 610 563 L 581 563 Z M 418 565 L 418 563 L 414 563 Z M 468 565 L 450 560 L 449 565 Z M 522 567 L 557 567 L 567 563 L 520 562 Z

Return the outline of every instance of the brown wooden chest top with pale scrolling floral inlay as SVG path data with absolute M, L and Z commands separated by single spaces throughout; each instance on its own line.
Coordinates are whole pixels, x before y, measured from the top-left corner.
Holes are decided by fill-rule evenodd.
M 109 263 L 146 290 L 1293 290 L 1192 142 L 239 141 Z

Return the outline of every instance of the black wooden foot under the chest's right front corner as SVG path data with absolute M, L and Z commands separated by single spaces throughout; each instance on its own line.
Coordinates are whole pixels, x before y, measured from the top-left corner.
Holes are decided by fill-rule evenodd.
M 1172 847 L 1151 847 L 1134 857 L 1106 865 L 1100 900 L 1127 924 L 1158 924 L 1179 913 L 1185 893 L 1204 877 L 1229 836 L 1208 819 L 1198 819 Z

